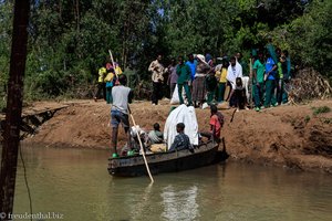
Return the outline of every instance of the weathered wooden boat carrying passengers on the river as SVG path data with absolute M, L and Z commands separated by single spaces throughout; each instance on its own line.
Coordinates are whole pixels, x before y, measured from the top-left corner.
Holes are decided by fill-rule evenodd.
M 216 162 L 218 144 L 209 141 L 199 145 L 190 152 L 188 149 L 146 155 L 152 173 L 175 172 L 194 169 Z M 108 159 L 108 172 L 118 177 L 135 177 L 147 175 L 144 159 L 141 155 Z

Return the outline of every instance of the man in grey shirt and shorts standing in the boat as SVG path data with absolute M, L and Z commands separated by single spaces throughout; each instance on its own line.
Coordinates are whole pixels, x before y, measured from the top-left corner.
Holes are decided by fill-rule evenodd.
M 128 103 L 132 103 L 133 91 L 126 86 L 127 77 L 122 74 L 118 76 L 120 85 L 112 88 L 113 105 L 111 108 L 111 125 L 112 125 L 112 157 L 118 157 L 117 134 L 120 123 L 124 127 L 127 135 L 127 147 L 132 149 L 131 145 L 131 131 L 129 131 L 129 118 L 128 118 Z

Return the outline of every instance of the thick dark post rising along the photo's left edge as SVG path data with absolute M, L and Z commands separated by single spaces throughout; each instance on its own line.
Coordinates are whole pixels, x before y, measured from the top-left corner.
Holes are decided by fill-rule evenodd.
M 9 220 L 8 214 L 12 213 L 13 210 L 23 99 L 23 76 L 27 61 L 29 12 L 29 0 L 14 1 L 10 76 L 8 82 L 7 113 L 3 133 L 4 143 L 0 173 L 1 220 Z

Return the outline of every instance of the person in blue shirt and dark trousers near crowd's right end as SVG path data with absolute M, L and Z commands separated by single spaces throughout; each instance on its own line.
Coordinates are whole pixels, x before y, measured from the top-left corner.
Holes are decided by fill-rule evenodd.
M 271 56 L 271 53 L 267 53 L 267 62 L 266 62 L 266 101 L 264 101 L 264 107 L 268 108 L 271 105 L 276 105 L 276 96 L 274 96 L 274 90 L 276 90 L 276 80 L 277 80 L 277 64 Z

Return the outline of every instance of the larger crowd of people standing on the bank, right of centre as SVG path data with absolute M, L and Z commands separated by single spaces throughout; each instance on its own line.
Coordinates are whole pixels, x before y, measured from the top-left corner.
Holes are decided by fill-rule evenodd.
M 179 104 L 195 107 L 228 102 L 229 107 L 237 109 L 260 110 L 288 103 L 284 85 L 291 76 L 290 57 L 288 51 L 274 50 L 270 43 L 264 50 L 255 50 L 248 63 L 241 53 L 216 59 L 210 54 L 188 54 L 187 61 L 178 56 L 167 67 L 162 59 L 159 54 L 148 67 L 153 105 L 158 105 L 164 96 L 160 88 L 165 84 L 169 86 L 170 98 L 177 93 Z

